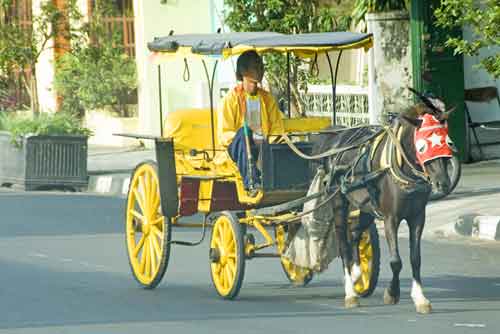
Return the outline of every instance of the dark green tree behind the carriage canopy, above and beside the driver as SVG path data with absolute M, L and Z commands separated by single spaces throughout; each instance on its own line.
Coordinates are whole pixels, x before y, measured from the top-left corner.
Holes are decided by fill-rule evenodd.
M 340 2 L 335 1 L 337 4 Z M 225 24 L 232 31 L 273 31 L 286 34 L 349 30 L 350 18 L 339 15 L 339 10 L 321 0 L 224 0 Z M 338 9 L 338 8 L 337 8 Z M 305 89 L 313 76 L 314 60 L 290 57 L 290 88 L 295 113 L 304 114 L 299 90 Z M 265 57 L 266 79 L 277 95 L 287 92 L 285 55 Z

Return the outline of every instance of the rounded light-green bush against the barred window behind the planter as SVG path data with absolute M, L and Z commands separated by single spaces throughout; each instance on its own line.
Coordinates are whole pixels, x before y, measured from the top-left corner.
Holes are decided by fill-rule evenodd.
M 121 36 L 109 35 L 102 24 L 104 15 L 106 9 L 96 12 L 80 40 L 57 64 L 55 87 L 64 111 L 82 114 L 86 109 L 113 106 L 126 114 L 126 100 L 137 88 L 135 61 L 117 46 Z

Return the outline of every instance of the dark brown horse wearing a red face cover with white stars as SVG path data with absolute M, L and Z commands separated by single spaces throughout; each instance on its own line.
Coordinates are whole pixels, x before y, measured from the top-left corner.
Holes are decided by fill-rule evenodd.
M 399 302 L 402 261 L 397 233 L 405 220 L 410 238 L 411 298 L 417 313 L 432 310 L 422 288 L 420 244 L 431 183 L 441 191 L 450 186 L 447 163 L 452 142 L 447 118 L 451 111 L 444 109 L 441 100 L 413 92 L 423 102 L 401 112 L 389 126 L 346 129 L 326 136 L 313 149 L 313 153 L 341 151 L 324 158 L 323 167 L 330 173 L 330 189 L 338 189 L 331 199 L 332 223 L 344 269 L 346 308 L 359 306 L 353 287 L 361 274 L 358 244 L 363 231 L 378 218 L 384 222 L 392 269 L 384 303 Z M 353 208 L 360 210 L 354 225 L 347 219 Z

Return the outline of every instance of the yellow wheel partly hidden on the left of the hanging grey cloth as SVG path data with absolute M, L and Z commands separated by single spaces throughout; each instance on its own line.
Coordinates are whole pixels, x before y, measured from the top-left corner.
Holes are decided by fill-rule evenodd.
M 275 225 L 274 226 L 274 236 L 276 240 L 276 246 L 280 255 L 283 254 L 285 250 L 285 243 L 287 240 L 288 226 L 287 225 Z M 306 286 L 313 278 L 312 270 L 308 268 L 299 267 L 293 264 L 290 260 L 281 257 L 281 267 L 285 272 L 288 280 L 296 286 Z

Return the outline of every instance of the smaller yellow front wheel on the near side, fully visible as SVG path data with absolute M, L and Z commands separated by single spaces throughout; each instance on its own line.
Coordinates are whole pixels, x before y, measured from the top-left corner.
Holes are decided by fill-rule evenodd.
M 235 298 L 245 275 L 245 244 L 238 217 L 221 212 L 210 238 L 210 273 L 217 293 L 224 299 Z

